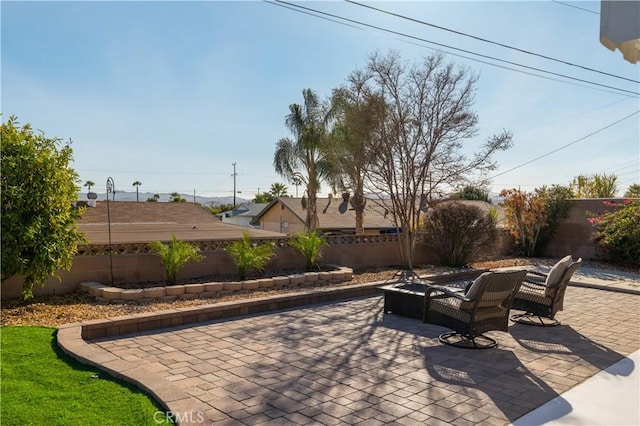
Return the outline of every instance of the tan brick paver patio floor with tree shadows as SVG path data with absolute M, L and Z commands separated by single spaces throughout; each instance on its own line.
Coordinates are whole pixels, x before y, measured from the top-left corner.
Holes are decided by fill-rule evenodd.
M 484 351 L 442 345 L 446 329 L 382 306 L 373 296 L 88 345 L 155 387 L 181 424 L 247 425 L 509 424 L 640 348 L 634 294 L 569 287 L 561 326 L 512 324 Z

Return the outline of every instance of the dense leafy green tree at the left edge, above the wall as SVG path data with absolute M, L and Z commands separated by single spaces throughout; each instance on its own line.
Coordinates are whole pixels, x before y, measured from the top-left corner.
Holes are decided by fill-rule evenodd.
M 81 210 L 78 174 L 69 167 L 70 144 L 20 127 L 16 117 L 1 125 L 2 135 L 2 280 L 24 276 L 22 296 L 33 297 L 59 270 L 69 270 L 77 243 Z

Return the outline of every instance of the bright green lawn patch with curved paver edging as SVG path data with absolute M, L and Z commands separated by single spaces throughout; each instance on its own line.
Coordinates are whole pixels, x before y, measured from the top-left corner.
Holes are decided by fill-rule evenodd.
M 55 334 L 48 327 L 0 328 L 0 423 L 170 424 L 163 423 L 164 410 L 133 385 L 67 356 Z

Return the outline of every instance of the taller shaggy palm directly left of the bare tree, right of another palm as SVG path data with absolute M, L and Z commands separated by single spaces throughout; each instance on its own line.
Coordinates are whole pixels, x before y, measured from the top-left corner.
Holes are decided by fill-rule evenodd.
M 335 167 L 334 186 L 351 192 L 355 212 L 355 231 L 364 234 L 364 209 L 367 199 L 364 187 L 366 172 L 373 162 L 373 140 L 384 121 L 385 103 L 381 96 L 370 93 L 361 72 L 353 72 L 348 85 L 333 91 L 332 105 L 336 123 L 331 133 L 331 163 Z

